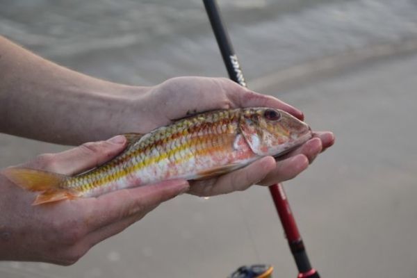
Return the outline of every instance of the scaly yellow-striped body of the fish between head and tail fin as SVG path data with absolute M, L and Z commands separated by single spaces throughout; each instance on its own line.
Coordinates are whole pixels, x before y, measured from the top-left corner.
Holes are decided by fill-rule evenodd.
M 102 194 L 231 162 L 239 115 L 238 110 L 219 111 L 181 120 L 144 136 L 114 161 L 68 179 L 63 187 L 81 190 L 85 196 Z

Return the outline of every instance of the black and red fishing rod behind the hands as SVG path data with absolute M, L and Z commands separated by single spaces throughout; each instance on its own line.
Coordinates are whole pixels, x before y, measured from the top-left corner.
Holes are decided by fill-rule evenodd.
M 229 78 L 236 83 L 247 87 L 245 78 L 243 77 L 243 72 L 240 69 L 238 57 L 236 56 L 236 53 L 231 45 L 226 28 L 224 28 L 217 2 L 215 0 L 203 0 L 203 2 L 211 27 L 213 28 L 213 33 L 218 42 L 224 65 L 226 66 L 229 74 Z M 281 220 L 282 227 L 284 227 L 288 245 L 290 246 L 291 253 L 293 254 L 295 264 L 297 265 L 299 272 L 297 278 L 320 278 L 318 272 L 311 267 L 309 257 L 307 256 L 304 243 L 300 236 L 300 231 L 298 231 L 297 223 L 295 222 L 294 215 L 291 211 L 290 203 L 286 197 L 284 187 L 281 183 L 278 183 L 270 186 L 269 190 L 272 200 L 275 203 L 275 207 L 277 208 L 277 213 L 279 215 L 279 219 Z

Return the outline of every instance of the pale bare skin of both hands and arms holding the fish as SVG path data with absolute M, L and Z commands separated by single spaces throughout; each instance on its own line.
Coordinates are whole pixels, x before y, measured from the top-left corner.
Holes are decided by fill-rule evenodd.
M 78 174 L 122 152 L 126 138 L 113 137 L 117 134 L 147 133 L 187 113 L 266 106 L 304 117 L 279 99 L 227 79 L 180 77 L 152 87 L 111 83 L 60 67 L 2 37 L 0 76 L 1 133 L 83 144 L 22 164 L 60 174 Z M 268 156 L 214 179 L 164 181 L 42 206 L 31 206 L 34 194 L 0 173 L 0 260 L 70 265 L 168 199 L 186 192 L 220 195 L 255 183 L 269 186 L 293 179 L 333 143 L 332 133 L 316 132 L 279 161 Z

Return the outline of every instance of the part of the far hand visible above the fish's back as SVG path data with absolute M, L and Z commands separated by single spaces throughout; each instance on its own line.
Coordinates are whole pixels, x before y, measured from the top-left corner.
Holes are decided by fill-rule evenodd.
M 239 107 L 271 107 L 291 113 L 300 120 L 301 111 L 275 97 L 261 95 L 224 78 L 184 76 L 149 88 L 131 104 L 126 132 L 147 133 L 186 115 Z

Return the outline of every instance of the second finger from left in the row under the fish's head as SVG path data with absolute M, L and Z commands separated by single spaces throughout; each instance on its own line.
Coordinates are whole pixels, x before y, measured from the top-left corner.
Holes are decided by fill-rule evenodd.
M 262 186 L 270 186 L 274 183 L 288 181 L 295 178 L 302 171 L 309 167 L 309 159 L 304 154 L 298 154 L 291 158 L 277 162 L 275 170 L 270 171 L 260 183 Z

